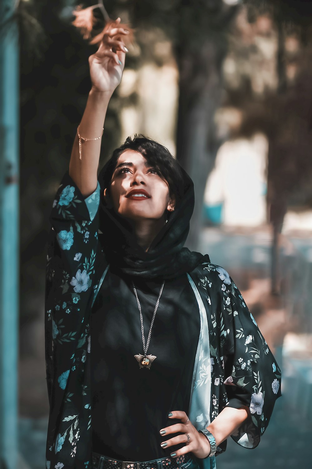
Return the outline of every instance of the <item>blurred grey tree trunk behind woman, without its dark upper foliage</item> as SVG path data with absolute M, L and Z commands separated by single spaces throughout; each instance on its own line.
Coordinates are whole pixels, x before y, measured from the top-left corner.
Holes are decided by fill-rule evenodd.
M 219 49 L 219 50 L 218 50 Z M 180 50 L 177 159 L 195 185 L 195 209 L 186 245 L 198 249 L 203 224 L 203 195 L 219 142 L 214 114 L 221 101 L 221 52 L 216 40 L 205 39 L 196 50 Z

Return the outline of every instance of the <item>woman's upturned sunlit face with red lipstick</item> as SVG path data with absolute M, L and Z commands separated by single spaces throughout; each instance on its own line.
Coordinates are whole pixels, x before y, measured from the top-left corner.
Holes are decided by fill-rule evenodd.
M 104 197 L 108 201 L 106 189 Z M 124 218 L 166 219 L 174 210 L 167 181 L 135 150 L 125 150 L 117 161 L 110 185 L 109 202 Z

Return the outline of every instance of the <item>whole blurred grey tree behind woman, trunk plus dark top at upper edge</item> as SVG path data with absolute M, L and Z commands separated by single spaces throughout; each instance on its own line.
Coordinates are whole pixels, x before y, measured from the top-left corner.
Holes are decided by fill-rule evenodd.
M 222 63 L 236 1 L 136 0 L 131 19 L 138 41 L 161 29 L 172 41 L 179 69 L 176 157 L 195 183 L 196 206 L 187 245 L 196 249 L 202 227 L 203 194 L 221 140 L 214 117 L 222 100 Z M 144 51 L 143 40 L 140 45 Z

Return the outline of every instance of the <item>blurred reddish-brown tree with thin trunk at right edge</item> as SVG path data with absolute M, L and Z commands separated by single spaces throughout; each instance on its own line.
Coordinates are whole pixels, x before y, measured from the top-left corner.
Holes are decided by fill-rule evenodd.
M 305 0 L 276 0 L 274 2 L 244 0 L 249 21 L 269 15 L 277 34 L 276 73 L 274 93 L 264 93 L 262 129 L 268 136 L 268 208 L 273 227 L 271 289 L 280 292 L 279 235 L 291 200 L 298 199 L 303 186 L 311 180 L 311 28 L 312 3 Z M 293 46 L 287 51 L 287 41 Z M 297 51 L 294 44 L 299 42 Z M 296 49 L 296 47 L 295 47 Z M 248 124 L 250 126 L 250 122 Z M 311 189 L 306 196 L 311 198 Z M 302 199 L 302 197 L 301 197 Z

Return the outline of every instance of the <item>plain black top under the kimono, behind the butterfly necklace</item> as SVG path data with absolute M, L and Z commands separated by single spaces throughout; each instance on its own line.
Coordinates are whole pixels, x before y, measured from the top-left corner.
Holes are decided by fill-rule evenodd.
M 93 451 L 128 461 L 167 457 L 173 448 L 161 448 L 166 435 L 159 432 L 181 422 L 169 419 L 170 411 L 189 410 L 200 332 L 198 303 L 186 274 L 165 281 L 147 349 L 147 355 L 157 358 L 150 369 L 140 369 L 134 355 L 144 351 L 131 278 L 111 269 L 91 316 Z M 136 278 L 134 284 L 146 345 L 162 282 Z

